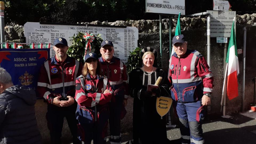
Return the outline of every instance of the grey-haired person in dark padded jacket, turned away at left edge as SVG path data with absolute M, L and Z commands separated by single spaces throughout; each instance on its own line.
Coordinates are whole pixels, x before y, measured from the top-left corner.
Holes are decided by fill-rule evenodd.
M 35 103 L 35 91 L 14 86 L 11 75 L 0 67 L 0 144 L 42 143 Z

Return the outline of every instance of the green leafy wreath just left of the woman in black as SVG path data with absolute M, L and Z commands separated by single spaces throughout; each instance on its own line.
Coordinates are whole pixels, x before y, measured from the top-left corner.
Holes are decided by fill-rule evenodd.
M 136 67 L 142 66 L 142 60 L 140 57 L 141 54 L 141 48 L 136 47 L 132 52 L 130 52 L 130 55 L 128 57 L 128 60 L 126 62 L 127 67 L 127 73 L 130 74 L 131 70 L 135 69 Z

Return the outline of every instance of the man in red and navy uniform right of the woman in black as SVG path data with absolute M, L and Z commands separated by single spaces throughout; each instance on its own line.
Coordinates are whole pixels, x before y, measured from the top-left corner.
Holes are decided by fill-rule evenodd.
M 205 106 L 211 104 L 213 74 L 205 58 L 187 49 L 184 35 L 173 37 L 175 53 L 169 62 L 171 97 L 179 117 L 182 143 L 204 143 L 201 120 Z

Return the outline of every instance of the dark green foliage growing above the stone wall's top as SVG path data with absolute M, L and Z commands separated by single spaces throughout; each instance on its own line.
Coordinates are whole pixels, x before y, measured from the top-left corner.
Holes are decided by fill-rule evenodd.
M 145 12 L 143 0 L 0 0 L 5 2 L 5 22 L 24 25 L 26 22 L 81 23 L 91 21 L 159 19 Z M 255 0 L 229 0 L 237 14 L 253 13 Z M 200 5 L 198 5 L 200 3 Z M 213 9 L 209 0 L 185 1 L 186 14 Z M 241 12 L 238 12 L 241 11 Z M 172 15 L 175 17 L 175 15 Z

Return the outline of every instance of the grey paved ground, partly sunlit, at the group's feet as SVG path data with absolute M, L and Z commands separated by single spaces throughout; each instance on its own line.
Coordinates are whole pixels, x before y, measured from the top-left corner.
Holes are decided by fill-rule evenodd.
M 256 112 L 236 113 L 230 118 L 209 115 L 203 124 L 205 144 L 256 144 Z M 170 144 L 180 143 L 178 128 L 168 129 Z M 129 144 L 132 133 L 122 134 L 122 144 Z M 107 140 L 107 144 L 110 142 Z M 169 144 L 168 143 L 168 144 Z

